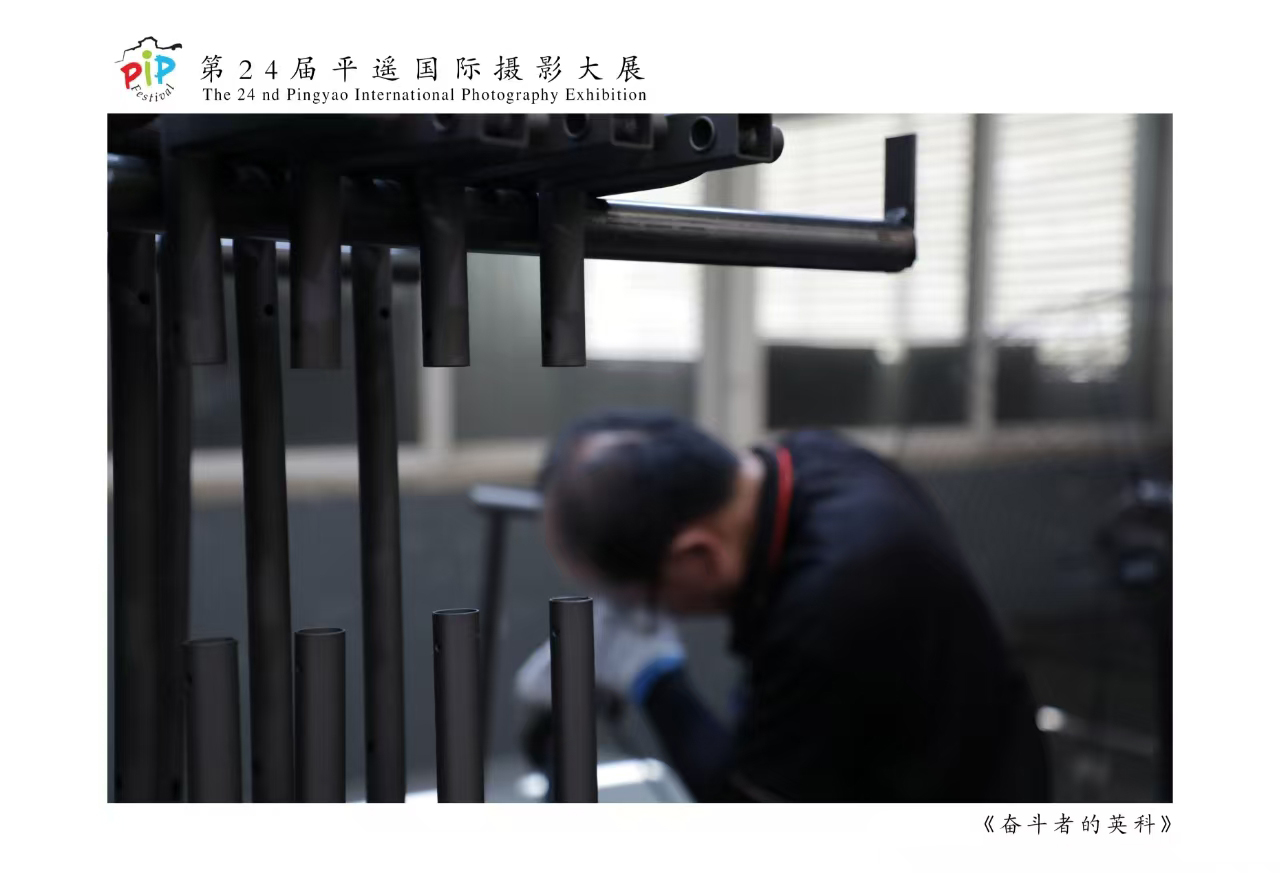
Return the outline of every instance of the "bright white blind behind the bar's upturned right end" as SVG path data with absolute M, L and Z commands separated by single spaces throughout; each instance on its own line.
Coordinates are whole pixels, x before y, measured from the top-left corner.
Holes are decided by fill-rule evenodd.
M 782 157 L 759 170 L 759 207 L 845 218 L 884 211 L 884 140 L 916 136 L 915 266 L 900 274 L 760 271 L 765 342 L 872 347 L 964 337 L 973 128 L 968 115 L 828 115 L 788 120 Z

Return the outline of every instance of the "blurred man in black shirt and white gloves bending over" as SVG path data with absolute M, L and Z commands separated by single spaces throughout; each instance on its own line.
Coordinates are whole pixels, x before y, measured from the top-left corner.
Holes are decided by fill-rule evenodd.
M 668 415 L 604 412 L 554 443 L 548 545 L 595 598 L 598 687 L 649 717 L 701 801 L 1037 801 L 1043 740 L 941 513 L 829 433 L 737 454 Z M 732 726 L 671 614 L 723 613 L 746 668 Z M 548 645 L 517 696 L 550 701 Z

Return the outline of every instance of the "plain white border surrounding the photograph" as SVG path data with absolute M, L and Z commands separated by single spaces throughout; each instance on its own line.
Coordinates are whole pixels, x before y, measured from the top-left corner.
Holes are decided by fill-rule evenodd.
M 207 3 L 182 12 L 151 4 L 6 13 L 10 41 L 24 36 L 6 65 L 17 105 L 4 137 L 4 865 L 1277 869 L 1277 483 L 1274 472 L 1256 474 L 1268 470 L 1277 445 L 1277 392 L 1266 375 L 1277 370 L 1267 342 L 1280 316 L 1275 28 L 1251 14 L 1262 8 L 916 0 L 312 3 L 284 12 Z M 1172 111 L 1179 800 L 1143 808 L 106 804 L 102 140 L 105 113 L 127 110 L 111 61 L 143 35 L 180 41 L 188 74 L 192 60 L 214 52 L 314 55 L 317 67 L 348 54 L 408 60 L 420 45 L 424 55 L 483 63 L 499 54 L 635 54 L 649 111 Z M 189 81 L 179 84 L 193 91 Z M 214 105 L 184 99 L 165 109 Z M 466 106 L 490 109 L 508 108 Z M 1174 828 L 1140 836 L 1130 828 L 1123 837 L 982 828 L 988 814 L 1027 822 L 1037 812 L 1103 822 L 1123 813 L 1130 823 L 1169 814 Z

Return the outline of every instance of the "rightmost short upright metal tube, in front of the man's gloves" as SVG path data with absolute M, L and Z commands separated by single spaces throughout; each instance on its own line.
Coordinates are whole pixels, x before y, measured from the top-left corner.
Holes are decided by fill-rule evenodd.
M 552 791 L 596 803 L 595 632 L 591 598 L 552 598 Z

